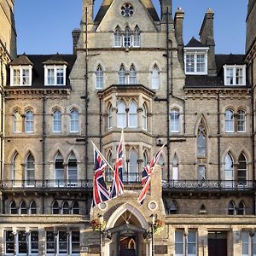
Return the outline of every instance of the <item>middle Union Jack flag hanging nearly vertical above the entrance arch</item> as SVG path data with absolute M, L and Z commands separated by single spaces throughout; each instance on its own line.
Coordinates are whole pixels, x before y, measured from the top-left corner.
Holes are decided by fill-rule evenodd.
M 124 163 L 124 131 L 122 130 L 119 147 L 117 148 L 115 166 L 113 171 L 113 182 L 110 191 L 110 198 L 116 198 L 119 195 L 124 194 L 124 183 L 123 183 L 123 163 Z

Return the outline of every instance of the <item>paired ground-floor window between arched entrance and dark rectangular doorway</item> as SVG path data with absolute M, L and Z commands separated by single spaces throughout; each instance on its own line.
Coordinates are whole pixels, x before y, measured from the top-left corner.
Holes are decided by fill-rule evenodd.
M 175 256 L 195 256 L 197 254 L 196 236 L 194 230 L 189 230 L 188 234 L 183 230 L 175 231 Z

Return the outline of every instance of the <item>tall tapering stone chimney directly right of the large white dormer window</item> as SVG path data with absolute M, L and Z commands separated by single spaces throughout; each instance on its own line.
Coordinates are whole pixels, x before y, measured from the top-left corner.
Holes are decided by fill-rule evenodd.
M 201 43 L 209 47 L 208 51 L 208 74 L 216 75 L 216 62 L 215 62 L 215 42 L 213 37 L 213 17 L 214 13 L 212 9 L 208 8 L 203 23 L 201 25 L 201 30 L 199 36 Z

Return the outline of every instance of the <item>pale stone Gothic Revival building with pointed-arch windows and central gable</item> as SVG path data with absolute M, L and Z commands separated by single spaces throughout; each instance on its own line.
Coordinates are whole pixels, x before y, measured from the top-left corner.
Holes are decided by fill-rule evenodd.
M 83 0 L 73 55 L 13 57 L 0 255 L 253 255 L 255 2 L 246 55 L 215 53 L 212 9 L 184 45 L 172 1 L 159 17 L 151 0 L 104 0 L 93 19 Z M 92 208 L 90 141 L 113 165 L 122 129 L 125 193 Z

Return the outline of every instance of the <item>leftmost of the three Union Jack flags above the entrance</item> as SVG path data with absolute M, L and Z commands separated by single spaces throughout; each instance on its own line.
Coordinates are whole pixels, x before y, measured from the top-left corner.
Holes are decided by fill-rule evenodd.
M 102 201 L 109 200 L 108 189 L 104 180 L 103 172 L 107 167 L 107 163 L 102 159 L 102 155 L 94 147 L 94 163 L 95 171 L 93 177 L 93 201 L 92 206 L 95 207 Z

